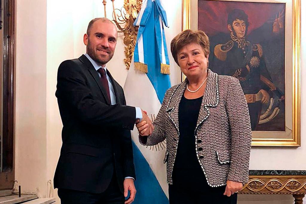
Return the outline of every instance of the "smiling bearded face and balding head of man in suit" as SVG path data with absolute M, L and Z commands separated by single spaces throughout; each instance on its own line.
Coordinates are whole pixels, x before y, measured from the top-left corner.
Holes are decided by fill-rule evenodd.
M 117 43 L 117 29 L 111 22 L 97 20 L 84 34 L 87 54 L 101 66 L 112 59 Z

